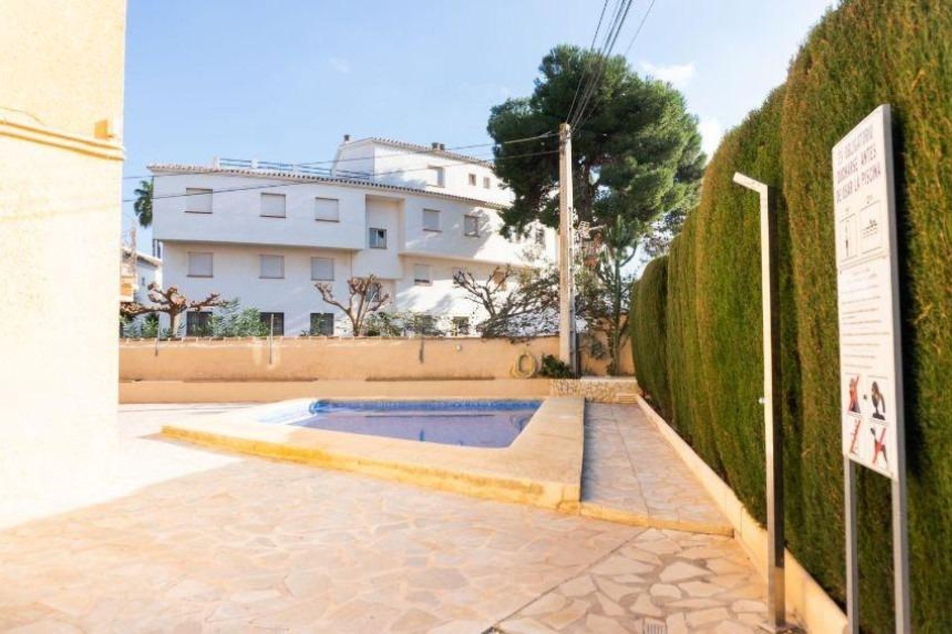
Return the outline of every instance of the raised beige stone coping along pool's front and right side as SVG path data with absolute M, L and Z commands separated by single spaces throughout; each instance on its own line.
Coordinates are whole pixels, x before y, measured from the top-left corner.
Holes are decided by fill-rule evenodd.
M 295 400 L 310 403 L 317 399 Z M 504 448 L 441 445 L 262 423 L 254 419 L 268 413 L 269 408 L 288 407 L 288 404 L 289 401 L 284 401 L 204 419 L 176 421 L 165 425 L 162 433 L 218 449 L 367 473 L 432 489 L 566 513 L 579 512 L 585 443 L 584 398 L 546 397 L 526 429 Z

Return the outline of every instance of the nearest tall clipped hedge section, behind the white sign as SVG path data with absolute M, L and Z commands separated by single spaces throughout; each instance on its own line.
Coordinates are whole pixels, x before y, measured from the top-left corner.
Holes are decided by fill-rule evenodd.
M 902 248 L 914 629 L 952 631 L 952 3 L 862 0 L 829 13 L 790 68 L 783 172 L 803 372 L 804 563 L 842 596 L 842 459 L 830 149 L 892 105 Z M 833 381 L 833 383 L 830 383 Z M 863 624 L 891 631 L 889 487 L 860 483 Z

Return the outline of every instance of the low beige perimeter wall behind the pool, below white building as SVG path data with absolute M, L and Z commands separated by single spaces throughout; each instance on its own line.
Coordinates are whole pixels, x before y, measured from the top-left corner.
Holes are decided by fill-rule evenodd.
M 479 338 L 324 338 L 123 341 L 120 380 L 423 380 L 510 378 L 523 352 L 558 355 L 557 337 L 526 342 Z M 626 355 L 630 356 L 630 355 Z M 630 363 L 630 361 L 629 361 Z M 524 361 L 528 367 L 528 360 Z M 585 359 L 605 373 L 605 360 Z

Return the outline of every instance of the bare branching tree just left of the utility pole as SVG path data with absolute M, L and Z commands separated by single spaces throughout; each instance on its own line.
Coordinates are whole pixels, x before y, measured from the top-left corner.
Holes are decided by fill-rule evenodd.
M 486 311 L 483 336 L 521 337 L 558 332 L 559 274 L 554 267 L 496 267 L 488 278 L 458 271 L 453 283 Z

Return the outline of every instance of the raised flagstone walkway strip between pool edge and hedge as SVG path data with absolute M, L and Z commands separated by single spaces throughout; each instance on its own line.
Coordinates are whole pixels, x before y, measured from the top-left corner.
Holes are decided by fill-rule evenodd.
M 724 514 L 637 405 L 585 407 L 582 512 L 636 526 L 732 534 Z

